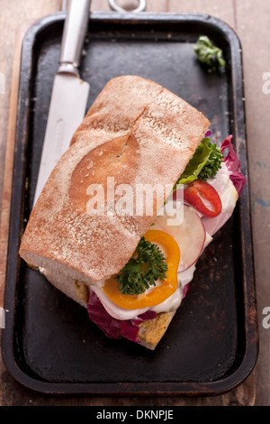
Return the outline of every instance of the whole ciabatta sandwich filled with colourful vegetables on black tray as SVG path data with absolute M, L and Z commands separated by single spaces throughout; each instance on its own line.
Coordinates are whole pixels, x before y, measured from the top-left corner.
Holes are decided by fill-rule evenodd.
M 20 256 L 107 337 L 154 350 L 233 213 L 245 177 L 209 126 L 153 81 L 112 78 L 31 211 Z

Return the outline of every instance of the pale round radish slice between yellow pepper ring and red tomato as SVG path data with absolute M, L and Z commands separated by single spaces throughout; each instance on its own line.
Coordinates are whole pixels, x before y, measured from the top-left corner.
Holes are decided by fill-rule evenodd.
M 149 229 L 166 231 L 175 238 L 181 253 L 178 272 L 182 272 L 192 266 L 201 255 L 205 242 L 205 229 L 201 218 L 191 207 L 184 204 L 179 207 L 182 208 L 179 213 L 182 219 L 178 219 L 178 223 L 170 225 L 172 222 L 170 219 L 174 217 L 164 214 L 157 216 L 154 225 Z

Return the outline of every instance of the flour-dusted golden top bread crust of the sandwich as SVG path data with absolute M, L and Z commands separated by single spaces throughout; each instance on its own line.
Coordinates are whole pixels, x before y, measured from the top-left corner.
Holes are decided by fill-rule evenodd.
M 135 76 L 113 78 L 85 115 L 33 207 L 20 248 L 23 259 L 86 282 L 102 282 L 120 272 L 163 206 L 166 186 L 175 184 L 209 124 L 202 113 L 157 83 Z M 164 190 L 154 190 L 151 213 L 142 201 L 136 215 L 136 190 L 145 184 Z M 94 191 L 100 185 L 103 190 Z M 125 188 L 132 192 L 135 215 L 131 203 L 130 215 L 122 215 L 127 210 Z M 114 198 L 107 198 L 108 191 Z M 94 199 L 98 213 L 93 211 Z M 130 197 L 125 199 L 129 203 Z

